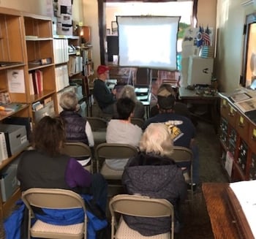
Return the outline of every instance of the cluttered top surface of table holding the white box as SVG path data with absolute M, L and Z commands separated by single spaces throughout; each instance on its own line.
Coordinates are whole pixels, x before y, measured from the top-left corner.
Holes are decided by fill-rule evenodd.
M 181 99 L 219 99 L 218 94 L 211 94 L 211 90 L 189 90 L 187 87 L 178 88 L 178 94 Z

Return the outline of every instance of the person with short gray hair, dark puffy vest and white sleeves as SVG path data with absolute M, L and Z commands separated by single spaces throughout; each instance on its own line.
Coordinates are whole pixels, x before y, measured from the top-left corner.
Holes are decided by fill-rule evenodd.
M 61 94 L 59 105 L 63 111 L 60 117 L 64 120 L 66 141 L 80 142 L 94 147 L 94 135 L 91 131 L 91 125 L 79 113 L 78 97 L 72 91 L 67 91 Z M 84 166 L 90 162 L 91 159 L 80 159 L 78 162 Z

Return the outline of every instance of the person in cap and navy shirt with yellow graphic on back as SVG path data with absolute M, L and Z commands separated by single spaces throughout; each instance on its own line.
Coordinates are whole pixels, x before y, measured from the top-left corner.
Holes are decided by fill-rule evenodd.
M 157 92 L 157 107 L 159 113 L 148 118 L 143 125 L 143 129 L 151 123 L 165 123 L 172 126 L 171 137 L 173 145 L 190 148 L 193 151 L 193 183 L 199 183 L 199 155 L 195 144 L 195 126 L 189 118 L 178 115 L 174 112 L 175 96 L 173 89 L 168 84 L 163 84 Z M 187 164 L 178 164 L 180 167 L 189 167 Z

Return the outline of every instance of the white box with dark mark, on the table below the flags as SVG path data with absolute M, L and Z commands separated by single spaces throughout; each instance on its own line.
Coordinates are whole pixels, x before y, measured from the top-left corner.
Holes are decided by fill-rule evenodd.
M 189 56 L 188 85 L 211 85 L 214 58 Z

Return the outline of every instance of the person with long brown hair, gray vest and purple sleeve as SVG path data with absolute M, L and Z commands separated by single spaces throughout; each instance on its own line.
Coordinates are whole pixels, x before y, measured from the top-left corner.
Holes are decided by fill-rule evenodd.
M 20 156 L 17 178 L 20 190 L 31 188 L 67 189 L 78 194 L 91 194 L 106 210 L 108 184 L 100 174 L 91 174 L 77 160 L 61 154 L 65 142 L 61 118 L 43 117 L 33 132 L 33 150 Z

